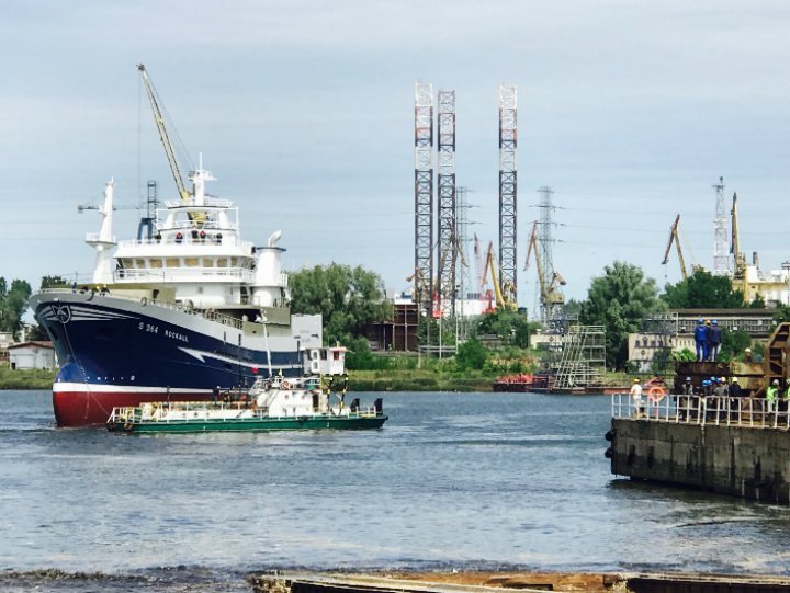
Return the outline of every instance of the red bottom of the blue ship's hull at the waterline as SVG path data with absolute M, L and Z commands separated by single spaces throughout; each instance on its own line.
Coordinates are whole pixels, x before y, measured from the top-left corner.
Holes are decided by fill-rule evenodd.
M 167 394 L 167 391 L 53 391 L 53 408 L 58 426 L 103 425 L 115 407 L 139 406 L 146 401 L 203 401 L 212 392 L 194 391 Z

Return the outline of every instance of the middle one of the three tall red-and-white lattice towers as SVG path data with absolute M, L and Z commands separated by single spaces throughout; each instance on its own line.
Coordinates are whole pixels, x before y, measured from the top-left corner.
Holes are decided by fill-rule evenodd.
M 439 91 L 437 114 L 439 142 L 439 208 L 437 228 L 437 290 L 442 317 L 455 311 L 455 263 L 458 260 L 455 231 L 455 91 Z

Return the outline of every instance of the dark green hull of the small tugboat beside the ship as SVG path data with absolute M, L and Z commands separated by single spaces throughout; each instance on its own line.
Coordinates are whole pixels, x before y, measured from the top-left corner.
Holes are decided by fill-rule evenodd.
M 296 417 L 269 419 L 201 419 L 174 421 L 140 421 L 109 425 L 113 432 L 126 433 L 203 433 L 203 432 L 273 432 L 317 430 L 369 430 L 380 429 L 387 417 Z

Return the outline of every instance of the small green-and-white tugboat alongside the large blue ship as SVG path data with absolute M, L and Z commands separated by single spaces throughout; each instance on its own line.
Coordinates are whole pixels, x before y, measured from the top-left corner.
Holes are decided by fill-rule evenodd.
M 381 398 L 362 408 L 359 398 L 347 406 L 343 396 L 345 387 L 339 394 L 324 388 L 319 376 L 259 378 L 247 392 L 221 394 L 222 401 L 114 408 L 106 426 L 117 433 L 202 433 L 380 429 L 386 422 Z

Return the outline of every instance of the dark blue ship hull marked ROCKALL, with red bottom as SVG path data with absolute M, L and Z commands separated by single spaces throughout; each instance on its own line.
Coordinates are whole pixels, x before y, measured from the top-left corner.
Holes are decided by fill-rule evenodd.
M 58 425 L 103 424 L 117 406 L 210 399 L 261 375 L 303 375 L 302 353 L 269 352 L 260 338 L 155 305 L 40 298 L 35 315 L 60 370 L 53 386 Z

